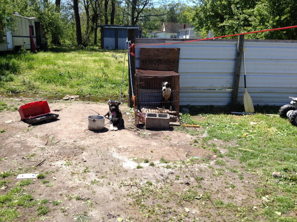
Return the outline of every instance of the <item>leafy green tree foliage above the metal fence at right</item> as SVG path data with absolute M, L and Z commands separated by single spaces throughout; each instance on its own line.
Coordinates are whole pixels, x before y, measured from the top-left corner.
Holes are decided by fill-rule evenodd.
M 296 10 L 293 0 L 202 0 L 194 7 L 191 18 L 196 30 L 212 30 L 214 36 L 224 36 L 295 25 Z M 250 34 L 245 38 L 296 39 L 296 34 L 296 29 L 288 29 Z

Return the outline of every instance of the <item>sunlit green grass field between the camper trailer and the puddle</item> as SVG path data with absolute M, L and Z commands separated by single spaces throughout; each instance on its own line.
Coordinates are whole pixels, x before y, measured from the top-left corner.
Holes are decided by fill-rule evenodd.
M 121 90 L 124 50 L 77 49 L 0 57 L 1 93 L 112 96 Z M 128 91 L 126 56 L 123 94 Z

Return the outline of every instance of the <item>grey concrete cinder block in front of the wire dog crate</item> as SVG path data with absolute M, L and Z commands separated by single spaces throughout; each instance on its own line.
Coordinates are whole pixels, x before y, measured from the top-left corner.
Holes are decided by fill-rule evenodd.
M 146 114 L 146 128 L 169 128 L 169 114 L 167 113 L 147 113 Z

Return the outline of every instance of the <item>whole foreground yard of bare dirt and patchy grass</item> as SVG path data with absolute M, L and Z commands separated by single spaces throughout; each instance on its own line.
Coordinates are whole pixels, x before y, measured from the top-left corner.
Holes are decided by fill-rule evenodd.
M 96 132 L 88 111 L 107 104 L 52 100 L 59 120 L 29 126 L 19 100 L 1 98 L 0 221 L 297 220 L 297 128 L 286 119 L 190 108 L 181 120 L 200 128 L 149 131 L 122 106 L 126 129 Z

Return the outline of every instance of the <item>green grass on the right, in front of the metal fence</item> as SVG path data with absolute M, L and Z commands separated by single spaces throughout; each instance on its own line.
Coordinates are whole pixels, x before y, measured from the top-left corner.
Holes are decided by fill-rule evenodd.
M 248 178 L 243 176 L 242 170 L 226 167 L 229 163 L 225 157 L 238 160 L 241 167 L 244 168 L 243 171 L 251 173 L 251 176 L 256 176 L 257 182 L 254 184 L 255 196 L 253 198 L 258 199 L 261 203 L 262 197 L 268 195 L 272 200 L 264 202 L 263 210 L 254 213 L 256 216 L 261 216 L 267 221 L 296 221 L 296 218 L 289 216 L 289 212 L 293 213 L 297 210 L 297 205 L 295 205 L 297 202 L 297 127 L 292 126 L 287 119 L 265 115 L 265 113 L 277 114 L 278 109 L 279 107 L 255 106 L 255 110 L 258 112 L 256 115 L 235 116 L 222 113 L 228 112 L 228 107 L 190 107 L 190 114 L 182 115 L 181 120 L 184 121 L 183 123 L 189 124 L 197 124 L 195 119 L 203 120 L 199 122 L 199 125 L 207 131 L 207 136 L 202 139 L 202 143 L 205 145 L 212 139 L 236 141 L 235 146 L 228 144 L 223 147 L 228 150 L 223 155 L 218 152 L 216 147 L 211 147 L 208 150 L 219 154 L 220 158 L 214 164 L 236 173 L 240 180 L 248 180 Z M 251 124 L 251 122 L 256 124 Z M 192 135 L 204 132 L 185 131 L 182 127 L 176 127 L 176 129 Z M 194 140 L 194 142 L 196 141 L 198 140 Z M 210 164 L 207 158 L 201 160 Z M 280 172 L 283 177 L 278 183 L 272 177 L 274 171 Z M 199 181 L 198 177 L 196 181 Z M 239 185 L 228 184 L 228 186 L 231 189 L 237 189 Z M 182 197 L 183 200 L 191 199 L 190 194 Z M 231 203 L 224 204 L 220 200 L 215 200 L 213 205 L 234 212 L 238 208 L 236 205 L 231 206 Z M 247 211 L 245 209 L 244 213 Z M 280 212 L 282 216 L 279 216 L 277 212 Z

